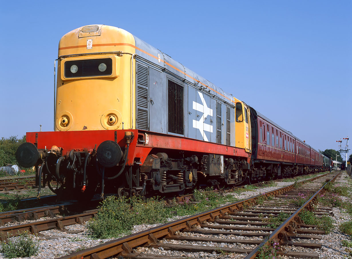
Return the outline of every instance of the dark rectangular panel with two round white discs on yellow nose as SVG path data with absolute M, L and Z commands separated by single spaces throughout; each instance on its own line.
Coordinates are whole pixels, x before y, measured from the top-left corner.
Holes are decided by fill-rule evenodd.
M 65 78 L 109 76 L 112 74 L 112 59 L 81 59 L 65 62 Z

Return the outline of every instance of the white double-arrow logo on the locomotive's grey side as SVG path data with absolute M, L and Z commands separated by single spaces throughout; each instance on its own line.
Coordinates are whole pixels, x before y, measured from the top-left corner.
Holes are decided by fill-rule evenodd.
M 213 116 L 213 109 L 208 108 L 203 94 L 198 91 L 197 93 L 199 94 L 202 104 L 193 101 L 193 109 L 196 111 L 203 112 L 203 115 L 199 118 L 199 121 L 195 119 L 193 120 L 193 128 L 199 129 L 200 133 L 202 134 L 203 140 L 209 141 L 204 131 L 213 132 L 213 126 L 204 122 L 208 115 Z

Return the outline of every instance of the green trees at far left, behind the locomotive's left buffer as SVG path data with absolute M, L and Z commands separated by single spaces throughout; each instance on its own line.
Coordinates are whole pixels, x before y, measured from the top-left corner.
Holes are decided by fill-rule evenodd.
M 26 136 L 18 139 L 17 136 L 11 136 L 9 138 L 2 137 L 0 139 L 0 167 L 6 166 L 7 164 L 17 164 L 16 161 L 16 150 L 18 146 L 26 142 Z

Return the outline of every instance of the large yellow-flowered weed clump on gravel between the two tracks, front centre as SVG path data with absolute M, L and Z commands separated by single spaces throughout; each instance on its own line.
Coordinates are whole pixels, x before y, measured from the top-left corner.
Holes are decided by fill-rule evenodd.
M 164 203 L 156 198 L 143 201 L 110 196 L 102 201 L 97 215 L 88 221 L 88 231 L 93 238 L 116 238 L 130 233 L 134 225 L 161 222 L 166 216 Z

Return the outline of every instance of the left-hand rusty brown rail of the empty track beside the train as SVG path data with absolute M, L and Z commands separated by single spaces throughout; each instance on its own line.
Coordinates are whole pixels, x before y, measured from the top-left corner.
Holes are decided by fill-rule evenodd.
M 302 182 L 312 181 L 314 179 L 318 179 L 328 174 L 316 176 L 312 179 L 307 179 Z M 238 209 L 242 209 L 243 206 L 245 205 L 253 204 L 260 196 L 268 197 L 270 195 L 283 193 L 293 188 L 294 188 L 294 184 L 291 184 L 289 186 L 272 190 L 271 192 L 256 195 L 251 198 L 241 200 L 235 203 L 231 203 L 228 205 L 224 205 L 207 212 L 202 212 L 193 216 L 189 216 L 187 218 L 166 223 L 158 227 L 150 228 L 148 230 L 145 230 L 136 234 L 132 234 L 127 237 L 112 240 L 112 241 L 106 242 L 105 244 L 101 244 L 99 246 L 78 251 L 73 254 L 60 257 L 60 259 L 77 259 L 77 258 L 102 259 L 102 258 L 116 256 L 116 255 L 133 257 L 138 254 L 133 252 L 132 248 L 134 247 L 142 246 L 147 243 L 149 244 L 155 243 L 157 242 L 158 239 L 164 238 L 165 236 L 175 237 L 177 236 L 177 231 L 180 231 L 183 229 L 196 230 L 197 229 L 196 225 L 201 225 L 201 226 L 207 225 L 203 223 L 205 221 L 212 221 L 212 222 L 219 221 L 220 220 L 219 217 L 226 216 L 228 213 L 234 212 L 235 210 L 238 210 Z

